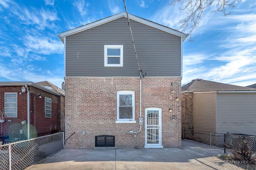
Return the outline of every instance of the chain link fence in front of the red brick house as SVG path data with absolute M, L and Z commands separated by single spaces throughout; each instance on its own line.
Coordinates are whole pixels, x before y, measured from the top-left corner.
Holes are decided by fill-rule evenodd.
M 24 170 L 64 148 L 64 132 L 0 145 L 0 170 Z

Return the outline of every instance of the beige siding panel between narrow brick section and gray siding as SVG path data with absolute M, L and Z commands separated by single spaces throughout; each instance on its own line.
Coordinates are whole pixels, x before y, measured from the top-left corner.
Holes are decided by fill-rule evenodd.
M 216 93 L 194 93 L 193 127 L 195 131 L 215 132 Z

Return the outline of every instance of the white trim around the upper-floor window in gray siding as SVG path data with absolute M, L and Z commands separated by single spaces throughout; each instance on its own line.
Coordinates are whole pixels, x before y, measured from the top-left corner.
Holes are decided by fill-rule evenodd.
M 107 49 L 108 48 L 118 48 L 120 49 L 120 64 L 108 64 L 108 55 L 107 55 Z M 124 45 L 104 45 L 104 66 L 105 67 L 122 67 L 123 66 L 123 60 L 124 60 Z M 111 56 L 109 56 L 111 57 Z

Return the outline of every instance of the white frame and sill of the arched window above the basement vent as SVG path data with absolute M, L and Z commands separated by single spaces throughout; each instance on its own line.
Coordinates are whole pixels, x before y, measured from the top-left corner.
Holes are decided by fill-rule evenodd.
M 116 109 L 117 109 L 117 121 L 116 123 L 136 123 L 135 121 L 135 92 L 134 91 L 118 91 L 116 93 Z M 131 94 L 132 95 L 132 119 L 119 119 L 119 95 L 120 94 Z

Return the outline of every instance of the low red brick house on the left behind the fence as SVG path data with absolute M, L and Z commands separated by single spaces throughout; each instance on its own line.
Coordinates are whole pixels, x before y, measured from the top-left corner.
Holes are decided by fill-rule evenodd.
M 45 83 L 48 85 L 40 86 Z M 47 81 L 0 82 L 0 111 L 4 119 L 1 137 L 5 143 L 64 131 L 60 123 L 64 92 L 54 88 Z

